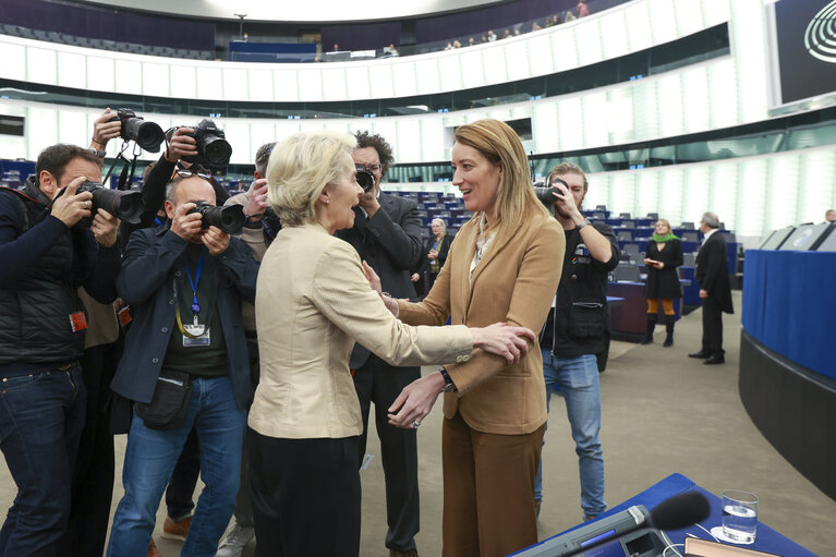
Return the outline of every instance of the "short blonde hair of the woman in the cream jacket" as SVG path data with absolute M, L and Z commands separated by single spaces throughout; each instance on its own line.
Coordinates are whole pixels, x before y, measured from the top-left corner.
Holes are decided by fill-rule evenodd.
M 278 143 L 267 165 L 267 201 L 282 226 L 316 221 L 316 199 L 344 171 L 353 135 L 332 131 L 298 133 Z

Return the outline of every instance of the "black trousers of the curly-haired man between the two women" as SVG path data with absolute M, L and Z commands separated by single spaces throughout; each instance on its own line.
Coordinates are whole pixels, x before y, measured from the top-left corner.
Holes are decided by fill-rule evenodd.
M 392 367 L 374 354 L 354 371 L 354 388 L 363 413 L 359 462 L 363 462 L 368 435 L 368 412 L 375 403 L 375 427 L 380 439 L 380 462 L 386 481 L 386 547 L 398 552 L 415 549 L 421 526 L 417 483 L 417 436 L 415 429 L 389 425 L 388 409 L 403 387 L 421 377 L 420 367 Z

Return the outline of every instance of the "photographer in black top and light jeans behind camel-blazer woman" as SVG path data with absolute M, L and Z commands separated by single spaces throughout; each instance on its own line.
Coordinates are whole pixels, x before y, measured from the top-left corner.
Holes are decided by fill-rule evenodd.
M 561 182 L 562 181 L 562 182 Z M 604 512 L 604 458 L 601 450 L 601 390 L 596 354 L 605 350 L 607 275 L 620 252 L 613 229 L 590 222 L 581 213 L 589 190 L 586 174 L 572 162 L 553 168 L 547 184 L 555 197 L 555 218 L 566 232 L 566 257 L 554 311 L 541 335 L 546 402 L 558 388 L 566 400 L 581 479 L 584 519 Z M 545 441 L 545 440 L 544 440 Z M 534 507 L 543 500 L 543 464 L 534 486 Z

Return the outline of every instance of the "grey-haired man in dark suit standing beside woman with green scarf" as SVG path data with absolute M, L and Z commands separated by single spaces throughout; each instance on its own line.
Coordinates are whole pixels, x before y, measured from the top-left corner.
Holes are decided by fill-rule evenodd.
M 700 231 L 705 234 L 696 254 L 696 273 L 702 299 L 702 349 L 691 358 L 705 360 L 706 365 L 725 362 L 723 350 L 723 312 L 735 313 L 731 306 L 731 286 L 728 280 L 728 251 L 726 239 L 717 233 L 719 217 L 705 213 Z

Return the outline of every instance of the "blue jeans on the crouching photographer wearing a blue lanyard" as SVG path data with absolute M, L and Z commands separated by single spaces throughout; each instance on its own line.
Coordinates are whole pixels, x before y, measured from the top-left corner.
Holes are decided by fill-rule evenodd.
M 162 492 L 192 427 L 201 444 L 197 500 L 181 557 L 214 557 L 235 508 L 246 411 L 232 396 L 228 376 L 193 378 L 185 421 L 177 429 L 149 429 L 136 415 L 128 436 L 119 501 L 108 545 L 109 557 L 146 555 Z

